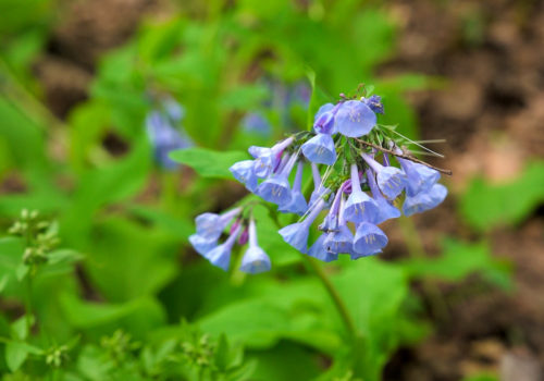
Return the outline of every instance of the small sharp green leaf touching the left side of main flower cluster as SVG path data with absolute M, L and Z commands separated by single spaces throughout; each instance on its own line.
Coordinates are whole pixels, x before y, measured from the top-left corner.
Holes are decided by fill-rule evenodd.
M 214 151 L 208 148 L 187 148 L 170 153 L 172 160 L 193 168 L 202 177 L 233 179 L 232 164 L 247 160 L 247 153 L 240 151 Z

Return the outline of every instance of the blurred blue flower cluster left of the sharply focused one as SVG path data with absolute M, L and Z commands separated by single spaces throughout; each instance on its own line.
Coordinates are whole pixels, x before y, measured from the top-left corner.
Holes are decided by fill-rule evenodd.
M 146 118 L 146 130 L 153 146 L 154 158 L 166 170 L 174 170 L 180 165 L 170 159 L 170 151 L 193 146 L 190 137 L 176 128 L 184 116 L 184 108 L 174 99 L 166 98 Z

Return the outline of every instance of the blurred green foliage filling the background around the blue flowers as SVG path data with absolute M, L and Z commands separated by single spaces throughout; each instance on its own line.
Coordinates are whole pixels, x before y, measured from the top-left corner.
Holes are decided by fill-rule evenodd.
M 491 232 L 542 205 L 539 160 L 506 183 L 453 186 L 446 216 L 460 219 L 461 233 L 435 231 L 432 258 L 403 220 L 391 226 L 401 246 L 387 260 L 326 266 L 362 333 L 355 342 L 264 208 L 256 213 L 271 273 L 225 274 L 187 244 L 196 214 L 244 196 L 226 163 L 249 144 L 306 128 L 312 91 L 334 99 L 373 86 L 386 108 L 381 122 L 420 137 L 407 91 L 447 84 L 417 71 L 379 74 L 397 54 L 400 28 L 380 1 L 161 1 L 137 16 L 79 5 L 0 0 L 1 224 L 8 232 L 28 221 L 22 210 L 39 210 L 35 220 L 51 230 L 0 238 L 3 379 L 380 380 L 398 348 L 452 319 L 442 285 L 475 276 L 479 288 L 511 292 L 512 266 L 492 255 Z M 70 29 L 74 14 L 82 19 Z M 136 17 L 137 26 L 101 49 L 86 39 L 92 16 Z M 474 13 L 463 24 L 475 46 L 480 22 Z M 75 42 L 60 45 L 62 33 Z M 61 48 L 86 74 L 59 64 L 59 77 L 86 93 L 54 107 L 36 64 Z M 174 170 L 157 161 L 146 131 L 169 99 L 183 106 L 176 127 L 197 147 Z M 256 112 L 264 127 L 246 127 Z M 47 232 L 58 247 L 39 246 Z

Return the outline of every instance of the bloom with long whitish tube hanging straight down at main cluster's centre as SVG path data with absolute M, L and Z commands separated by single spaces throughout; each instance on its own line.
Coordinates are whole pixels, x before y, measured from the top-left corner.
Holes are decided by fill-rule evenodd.
M 359 223 L 374 219 L 378 213 L 376 202 L 361 190 L 357 164 L 351 164 L 351 194 L 344 209 L 344 219 Z

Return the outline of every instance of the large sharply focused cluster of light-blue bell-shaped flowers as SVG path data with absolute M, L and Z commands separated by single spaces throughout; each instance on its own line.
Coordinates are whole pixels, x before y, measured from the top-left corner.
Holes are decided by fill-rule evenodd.
M 335 260 L 341 254 L 351 259 L 375 255 L 387 245 L 379 224 L 401 213 L 432 209 L 447 195 L 446 187 L 437 183 L 440 172 L 410 157 L 391 128 L 376 124 L 376 114 L 383 112 L 379 96 L 342 97 L 336 105 L 326 103 L 318 110 L 312 132 L 295 134 L 270 148 L 249 147 L 254 159 L 236 162 L 231 172 L 249 192 L 277 205 L 279 211 L 299 216 L 297 222 L 279 233 L 300 253 L 323 261 Z M 306 165 L 311 169 L 313 189 L 302 187 Z M 240 233 L 239 223 L 235 222 L 231 236 L 213 249 L 214 243 L 206 246 L 212 239 L 202 237 L 217 241 L 227 220 L 239 212 L 237 208 L 223 216 L 205 213 L 197 218 L 191 244 L 223 269 L 228 267 L 225 253 Z M 310 228 L 320 216 L 321 234 L 309 245 Z M 211 221 L 207 224 L 211 232 L 205 232 L 205 220 Z M 250 241 L 251 234 L 255 236 L 252 219 Z M 246 257 L 247 261 L 255 257 L 259 265 L 265 263 L 259 270 L 268 270 L 268 256 L 252 249 L 255 246 L 250 242 L 242 269 Z

